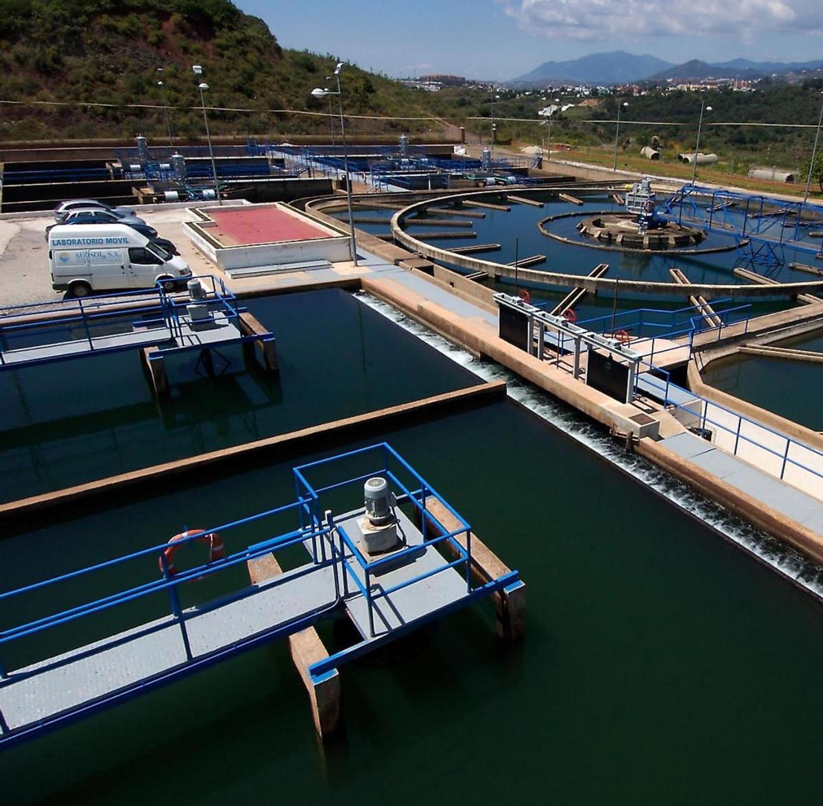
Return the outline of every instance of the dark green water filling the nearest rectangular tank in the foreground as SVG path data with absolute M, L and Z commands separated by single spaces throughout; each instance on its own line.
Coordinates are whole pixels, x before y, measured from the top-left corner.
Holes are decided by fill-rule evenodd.
M 8 803 L 816 802 L 819 602 L 506 401 L 387 435 L 528 584 L 526 640 L 489 607 L 416 657 L 343 669 L 319 747 L 281 644 L 0 755 Z M 308 458 L 308 457 L 307 457 Z M 289 465 L 0 542 L 9 575 L 291 498 Z

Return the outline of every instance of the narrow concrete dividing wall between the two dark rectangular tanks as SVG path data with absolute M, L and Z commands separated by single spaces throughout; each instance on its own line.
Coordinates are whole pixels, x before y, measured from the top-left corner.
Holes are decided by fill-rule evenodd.
M 0 522 L 19 521 L 26 529 L 30 529 L 32 516 L 43 513 L 55 515 L 66 510 L 72 511 L 81 502 L 106 498 L 109 499 L 109 503 L 120 504 L 122 499 L 119 494 L 122 490 L 145 490 L 146 488 L 157 490 L 162 485 L 168 484 L 172 478 L 174 480 L 202 478 L 202 471 L 205 468 L 219 472 L 227 467 L 244 465 L 248 469 L 249 464 L 260 457 L 267 457 L 270 461 L 279 461 L 282 457 L 298 450 L 316 450 L 321 446 L 339 443 L 344 439 L 355 439 L 381 429 L 394 429 L 420 422 L 426 417 L 448 416 L 459 410 L 499 401 L 505 395 L 506 385 L 503 381 L 479 383 L 441 395 L 425 397 L 378 411 L 370 411 L 362 415 L 332 420 L 298 431 L 259 439 L 253 443 L 244 443 L 232 448 L 223 448 L 173 462 L 144 467 L 117 476 L 108 476 L 105 479 L 66 487 L 63 490 L 54 490 L 0 504 Z

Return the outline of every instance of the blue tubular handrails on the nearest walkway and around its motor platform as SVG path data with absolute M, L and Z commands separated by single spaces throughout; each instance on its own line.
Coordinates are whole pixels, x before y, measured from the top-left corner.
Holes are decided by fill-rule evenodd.
M 313 475 L 314 471 L 317 471 L 321 467 L 348 462 L 351 461 L 352 458 L 367 458 L 370 462 L 373 462 L 375 457 L 382 461 L 375 462 L 373 466 L 374 470 L 367 474 L 360 474 L 342 481 L 334 481 L 317 489 L 315 489 L 307 478 L 307 475 Z M 393 466 L 395 466 L 398 472 L 393 469 Z M 400 472 L 412 478 L 414 481 L 412 486 L 416 487 L 415 490 L 409 489 L 409 486 L 403 483 L 398 475 Z M 337 603 L 343 597 L 349 595 L 348 583 L 349 581 L 353 581 L 355 587 L 364 595 L 368 602 L 370 630 L 373 636 L 374 600 L 379 597 L 386 597 L 402 588 L 407 588 L 424 579 L 429 579 L 431 576 L 439 574 L 444 570 L 451 568 L 457 569 L 460 566 L 463 566 L 465 570 L 467 593 L 472 593 L 471 527 L 462 516 L 439 495 L 435 488 L 426 482 L 388 443 L 379 443 L 369 448 L 360 448 L 359 450 L 346 452 L 337 457 L 311 462 L 296 467 L 293 473 L 297 490 L 297 499 L 295 502 L 272 508 L 266 512 L 258 513 L 247 518 L 240 518 L 220 526 L 205 529 L 202 532 L 198 532 L 198 534 L 189 534 L 188 537 L 174 541 L 174 545 L 185 546 L 189 543 L 202 540 L 203 534 L 212 533 L 219 534 L 225 541 L 226 536 L 232 537 L 232 532 L 239 530 L 240 527 L 247 527 L 249 524 L 261 522 L 267 518 L 282 516 L 286 513 L 295 513 L 298 521 L 298 525 L 291 531 L 282 532 L 278 534 L 277 537 L 270 537 L 263 541 L 254 542 L 249 546 L 245 546 L 238 551 L 226 555 L 223 559 L 209 561 L 197 565 L 192 569 L 181 570 L 178 573 L 170 571 L 169 560 L 165 553 L 169 549 L 170 544 L 164 542 L 109 560 L 103 560 L 86 568 L 70 571 L 66 574 L 59 574 L 50 579 L 44 579 L 36 583 L 24 585 L 21 588 L 0 593 L 0 607 L 7 608 L 9 603 L 18 597 L 24 597 L 26 595 L 40 597 L 47 589 L 55 588 L 63 583 L 82 581 L 86 585 L 91 585 L 93 583 L 92 580 L 96 576 L 130 563 L 154 560 L 154 563 L 156 563 L 160 569 L 160 576 L 157 579 L 149 579 L 146 582 L 134 584 L 131 587 L 119 590 L 116 593 L 95 597 L 73 607 L 63 607 L 55 612 L 50 612 L 46 616 L 41 616 L 8 627 L 5 630 L 0 630 L 0 649 L 7 644 L 12 644 L 30 635 L 35 635 L 45 630 L 53 630 L 58 626 L 81 621 L 87 616 L 121 607 L 128 602 L 135 602 L 156 593 L 165 592 L 170 599 L 170 617 L 173 623 L 179 626 L 188 652 L 188 635 L 186 634 L 185 624 L 188 618 L 202 614 L 203 612 L 208 612 L 216 607 L 222 607 L 228 602 L 234 602 L 241 598 L 252 596 L 258 593 L 258 589 L 253 587 L 243 588 L 239 592 L 231 594 L 229 597 L 221 597 L 213 602 L 198 605 L 196 609 L 187 612 L 180 606 L 179 587 L 181 585 L 192 582 L 193 580 L 206 578 L 212 574 L 220 574 L 222 571 L 245 563 L 248 560 L 299 544 L 311 547 L 310 551 L 313 560 L 312 569 L 332 566 L 335 606 L 337 606 Z M 346 490 L 346 488 L 351 487 L 351 485 L 362 484 L 365 479 L 375 475 L 384 476 L 391 481 L 395 490 L 400 491 L 401 494 L 398 496 L 399 505 L 410 504 L 420 514 L 423 539 L 421 543 L 407 546 L 400 551 L 394 551 L 391 557 L 381 558 L 379 560 L 366 560 L 356 546 L 356 543 L 346 534 L 345 529 L 335 524 L 331 512 L 323 511 L 323 498 L 332 491 Z M 443 524 L 439 522 L 438 518 L 428 510 L 426 504 L 427 501 L 430 500 L 437 500 L 456 522 L 458 522 L 458 528 L 451 531 L 447 530 Z M 426 537 L 426 532 L 428 532 L 429 527 L 436 532 L 436 537 Z M 458 541 L 458 537 L 461 535 L 465 535 L 465 546 Z M 371 576 L 376 571 L 384 568 L 388 563 L 402 562 L 402 560 L 405 560 L 407 557 L 415 555 L 421 550 L 425 550 L 428 546 L 438 546 L 445 542 L 449 542 L 452 546 L 453 553 L 457 556 L 456 560 L 444 561 L 442 565 L 429 569 L 423 574 L 417 574 L 410 579 L 403 580 L 391 588 L 378 591 L 374 590 L 371 584 Z M 359 567 L 360 574 L 357 573 L 353 565 L 354 563 Z M 309 571 L 307 570 L 306 573 L 309 573 Z M 364 578 L 365 581 L 363 581 L 361 577 Z M 283 579 L 288 578 L 288 575 L 285 575 Z M 278 581 L 275 583 L 279 583 L 279 581 L 282 580 L 278 578 Z M 191 659 L 190 652 L 188 657 Z M 36 670 L 30 673 L 34 674 Z M 0 678 L 2 678 L 0 679 L 0 686 L 3 686 L 11 682 L 12 679 L 20 679 L 20 675 L 19 673 L 15 673 L 13 678 L 9 677 L 8 672 L 2 667 L 2 663 L 0 663 Z

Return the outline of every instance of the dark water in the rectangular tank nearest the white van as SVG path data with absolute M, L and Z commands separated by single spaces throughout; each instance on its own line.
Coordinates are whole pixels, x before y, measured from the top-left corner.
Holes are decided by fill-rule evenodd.
M 137 352 L 0 373 L 0 500 L 249 442 L 471 386 L 477 378 L 342 291 L 257 299 L 277 335 L 279 375 L 244 365 L 221 377 L 168 358 L 158 401 Z M 219 359 L 216 359 L 219 367 Z

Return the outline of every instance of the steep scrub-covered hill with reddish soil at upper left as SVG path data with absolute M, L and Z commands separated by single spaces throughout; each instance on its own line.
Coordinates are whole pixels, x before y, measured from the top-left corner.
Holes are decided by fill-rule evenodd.
M 325 85 L 336 60 L 281 48 L 265 22 L 229 0 L 0 0 L 0 101 L 23 102 L 0 105 L 0 140 L 131 138 L 140 132 L 162 138 L 166 98 L 175 137 L 199 137 L 202 115 L 187 109 L 200 105 L 193 64 L 202 65 L 210 87 L 207 106 L 259 110 L 210 113 L 215 134 L 328 133 L 326 115 L 264 110 L 328 115 L 328 101 L 309 93 Z M 430 94 L 357 68 L 346 68 L 344 87 L 352 115 L 437 112 Z M 398 122 L 388 129 L 431 125 Z M 370 132 L 366 121 L 356 128 Z

